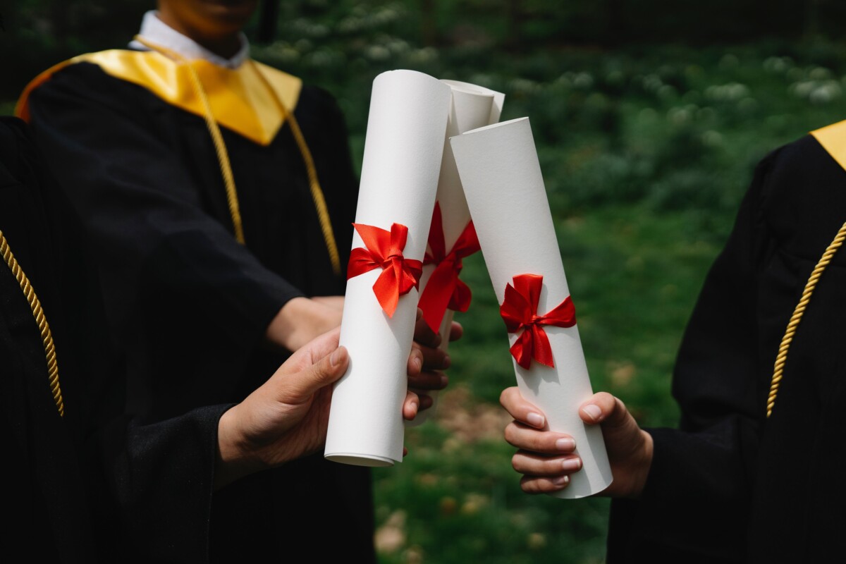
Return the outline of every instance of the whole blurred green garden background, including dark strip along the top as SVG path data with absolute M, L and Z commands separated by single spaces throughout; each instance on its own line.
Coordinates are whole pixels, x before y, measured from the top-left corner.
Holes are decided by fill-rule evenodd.
M 0 109 L 50 64 L 125 45 L 151 4 L 3 5 Z M 676 348 L 755 163 L 843 118 L 846 5 L 833 0 L 278 8 L 276 39 L 254 56 L 338 98 L 357 165 L 371 83 L 386 70 L 500 90 L 503 120 L 530 118 L 591 379 L 645 425 L 676 423 Z M 497 403 L 514 371 L 481 255 L 465 260 L 463 278 L 474 301 L 457 317 L 465 335 L 450 347 L 436 417 L 407 431 L 404 463 L 374 470 L 382 561 L 601 562 L 606 500 L 519 490 Z

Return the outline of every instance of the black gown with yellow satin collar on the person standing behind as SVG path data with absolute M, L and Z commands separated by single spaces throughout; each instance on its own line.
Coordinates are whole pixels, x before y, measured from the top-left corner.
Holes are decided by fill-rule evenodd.
M 294 108 L 343 266 L 352 243 L 357 180 L 332 97 L 264 66 L 261 88 L 211 63 L 197 70 L 221 125 L 245 244 L 233 238 L 195 90 L 167 57 L 118 50 L 78 58 L 36 79 L 19 105 L 84 222 L 126 356 L 125 413 L 142 424 L 243 399 L 286 358 L 262 344 L 282 305 L 343 294 L 289 125 L 262 113 L 274 107 L 266 85 Z M 289 539 L 321 560 L 375 561 L 366 468 L 317 454 L 241 479 L 209 502 L 211 561 L 282 555 Z

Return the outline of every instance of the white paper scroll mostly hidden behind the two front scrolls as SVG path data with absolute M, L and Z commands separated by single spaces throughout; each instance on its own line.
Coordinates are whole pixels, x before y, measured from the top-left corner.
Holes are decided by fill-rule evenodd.
M 472 85 L 458 80 L 442 80 L 452 90 L 452 105 L 447 123 L 447 136 L 443 144 L 443 158 L 441 173 L 437 181 L 437 201 L 440 203 L 443 220 L 443 238 L 446 249 L 453 248 L 456 240 L 470 222 L 470 210 L 464 200 L 464 190 L 461 189 L 459 171 L 455 168 L 452 148 L 449 138 L 462 134 L 470 129 L 481 128 L 490 123 L 497 123 L 503 112 L 505 95 L 501 92 L 489 90 L 482 86 Z M 435 265 L 423 266 L 423 276 L 420 277 L 420 293 L 426 288 Z M 453 311 L 447 309 L 440 326 L 441 345 L 447 351 L 449 345 L 449 329 L 453 323 Z M 411 421 L 406 421 L 407 427 L 416 427 L 432 417 L 437 409 L 437 391 L 426 392 L 432 398 L 431 408 L 421 411 Z

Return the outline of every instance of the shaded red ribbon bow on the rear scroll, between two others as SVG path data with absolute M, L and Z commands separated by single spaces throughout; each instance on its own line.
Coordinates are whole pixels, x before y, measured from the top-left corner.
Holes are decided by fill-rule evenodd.
M 429 229 L 429 249 L 423 260 L 424 265 L 437 265 L 432 271 L 429 282 L 423 288 L 418 307 L 423 310 L 423 319 L 432 331 L 440 330 L 443 315 L 447 309 L 453 311 L 467 311 L 470 307 L 472 293 L 470 287 L 459 280 L 459 274 L 464 265 L 461 260 L 479 250 L 479 239 L 476 237 L 473 222 L 469 222 L 459 238 L 453 244 L 449 253 L 443 238 L 443 220 L 441 205 L 435 202 L 435 211 L 431 216 Z

